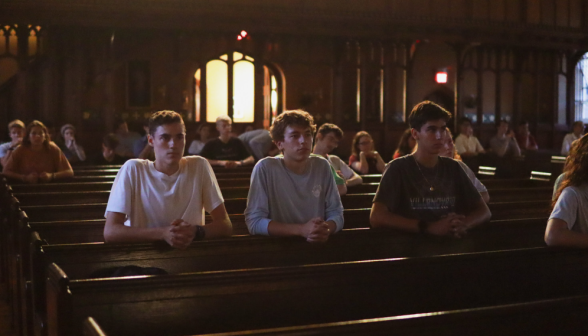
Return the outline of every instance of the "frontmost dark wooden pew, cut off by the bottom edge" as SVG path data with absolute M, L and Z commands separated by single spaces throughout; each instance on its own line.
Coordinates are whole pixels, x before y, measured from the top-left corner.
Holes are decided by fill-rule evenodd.
M 509 305 L 245 330 L 209 336 L 256 335 L 583 335 L 588 327 L 588 296 L 571 296 Z M 106 336 L 93 318 L 84 321 L 85 336 Z M 110 336 L 116 336 L 111 334 Z

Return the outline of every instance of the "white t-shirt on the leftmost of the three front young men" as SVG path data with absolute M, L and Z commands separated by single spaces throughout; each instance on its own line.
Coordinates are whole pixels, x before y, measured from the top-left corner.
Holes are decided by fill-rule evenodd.
M 116 175 L 106 213 L 127 215 L 125 225 L 132 227 L 168 226 L 179 218 L 204 225 L 202 209 L 210 213 L 223 202 L 214 172 L 200 156 L 183 157 L 171 176 L 157 171 L 153 161 L 134 159 Z

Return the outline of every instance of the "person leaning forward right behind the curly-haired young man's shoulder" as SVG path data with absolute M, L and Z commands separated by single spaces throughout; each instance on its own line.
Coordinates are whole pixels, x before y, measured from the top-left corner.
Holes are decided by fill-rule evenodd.
M 329 155 L 330 152 L 339 146 L 339 141 L 341 141 L 341 139 L 343 139 L 343 131 L 339 126 L 334 124 L 323 124 L 319 127 L 316 134 L 316 141 L 312 152 L 327 159 L 331 164 L 331 167 L 335 169 L 335 172 L 345 179 L 345 185 L 347 187 L 362 184 L 363 179 L 361 176 L 357 175 L 357 173 L 343 162 L 343 160 L 336 155 Z

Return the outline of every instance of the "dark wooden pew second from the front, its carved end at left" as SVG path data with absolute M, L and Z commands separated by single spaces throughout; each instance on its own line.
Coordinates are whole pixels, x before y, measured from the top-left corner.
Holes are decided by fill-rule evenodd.
M 80 280 L 52 264 L 48 329 L 79 334 L 83 319 L 93 316 L 115 335 L 198 334 L 587 295 L 587 257 L 531 248 Z

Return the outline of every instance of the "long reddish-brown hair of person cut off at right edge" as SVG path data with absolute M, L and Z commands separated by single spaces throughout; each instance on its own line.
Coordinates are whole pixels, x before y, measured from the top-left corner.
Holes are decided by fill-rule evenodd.
M 588 182 L 588 136 L 583 136 L 572 142 L 563 173 L 564 178 L 557 188 L 551 204 L 552 210 L 566 187 L 577 187 Z

